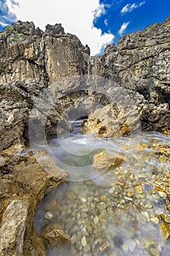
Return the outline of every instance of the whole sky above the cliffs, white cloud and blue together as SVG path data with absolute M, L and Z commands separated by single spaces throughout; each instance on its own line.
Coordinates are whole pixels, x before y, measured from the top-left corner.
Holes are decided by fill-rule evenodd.
M 65 32 L 90 46 L 92 56 L 169 15 L 169 0 L 0 0 L 0 30 L 15 20 L 33 20 L 40 29 L 62 23 Z

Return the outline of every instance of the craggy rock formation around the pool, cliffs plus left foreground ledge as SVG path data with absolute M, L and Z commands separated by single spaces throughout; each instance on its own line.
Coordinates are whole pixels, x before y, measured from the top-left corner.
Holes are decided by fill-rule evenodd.
M 1 255 L 47 255 L 34 229 L 34 210 L 67 175 L 45 173 L 31 156 L 35 152 L 26 157 L 22 152 L 25 140 L 31 134 L 39 138 L 42 127 L 48 135 L 69 129 L 67 110 L 73 105 L 88 116 L 82 133 L 129 135 L 140 122 L 144 130 L 169 129 L 170 18 L 125 35 L 96 57 L 61 24 L 47 25 L 44 32 L 18 21 L 0 32 Z M 28 131 L 32 108 L 34 125 Z M 9 230 L 11 214 L 18 219 Z M 56 230 L 52 235 L 69 240 Z M 49 239 L 48 244 L 56 242 Z

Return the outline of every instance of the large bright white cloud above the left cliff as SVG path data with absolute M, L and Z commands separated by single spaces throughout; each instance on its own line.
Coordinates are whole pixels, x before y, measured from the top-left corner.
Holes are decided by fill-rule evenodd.
M 10 0 L 8 0 L 10 1 Z M 101 29 L 93 27 L 93 20 L 105 12 L 99 0 L 18 0 L 20 7 L 12 5 L 18 20 L 33 20 L 40 29 L 47 23 L 62 23 L 65 32 L 76 34 L 83 45 L 88 44 L 91 55 L 100 53 L 103 45 L 112 42 L 111 33 L 101 35 Z M 96 11 L 95 11 L 96 10 Z

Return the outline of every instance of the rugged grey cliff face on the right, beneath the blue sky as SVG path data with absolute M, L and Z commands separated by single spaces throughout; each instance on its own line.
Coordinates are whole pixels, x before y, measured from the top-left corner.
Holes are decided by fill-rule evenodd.
M 137 91 L 146 99 L 142 128 L 161 131 L 169 127 L 170 17 L 144 31 L 125 35 L 117 46 L 108 45 L 103 56 L 90 61 L 90 72 Z

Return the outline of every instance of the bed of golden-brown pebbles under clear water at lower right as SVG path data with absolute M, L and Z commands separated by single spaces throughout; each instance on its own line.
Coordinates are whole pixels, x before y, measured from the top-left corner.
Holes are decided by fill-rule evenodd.
M 71 238 L 70 246 L 46 244 L 48 255 L 169 255 L 170 138 L 155 132 L 141 138 L 138 154 L 121 152 L 120 165 L 46 195 L 36 229 L 45 235 L 61 226 Z

